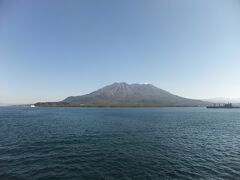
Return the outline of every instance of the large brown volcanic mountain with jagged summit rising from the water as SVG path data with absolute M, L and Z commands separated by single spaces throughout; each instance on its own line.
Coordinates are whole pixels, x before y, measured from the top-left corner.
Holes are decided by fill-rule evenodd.
M 36 106 L 82 107 L 166 107 L 206 106 L 208 102 L 173 95 L 151 84 L 114 83 L 82 96 L 70 96 L 60 102 L 36 103 Z

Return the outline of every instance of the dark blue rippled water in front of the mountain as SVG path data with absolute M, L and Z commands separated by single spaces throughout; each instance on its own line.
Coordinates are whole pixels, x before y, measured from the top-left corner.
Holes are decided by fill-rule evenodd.
M 240 110 L 0 108 L 0 179 L 240 179 Z

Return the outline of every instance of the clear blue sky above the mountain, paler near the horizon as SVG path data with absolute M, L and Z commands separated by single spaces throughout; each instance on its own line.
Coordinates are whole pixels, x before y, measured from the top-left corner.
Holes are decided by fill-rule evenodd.
M 0 102 L 116 81 L 240 97 L 240 1 L 0 0 Z

